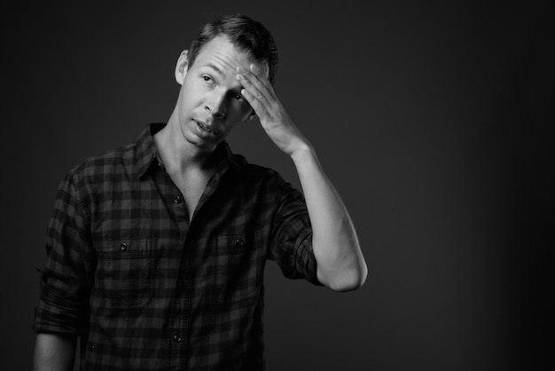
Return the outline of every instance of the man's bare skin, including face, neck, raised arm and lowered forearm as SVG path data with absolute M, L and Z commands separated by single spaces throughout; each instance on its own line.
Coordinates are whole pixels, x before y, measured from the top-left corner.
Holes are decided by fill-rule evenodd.
M 176 64 L 181 85 L 168 125 L 154 136 L 161 160 L 184 195 L 192 216 L 214 173 L 211 155 L 240 123 L 256 114 L 271 140 L 291 156 L 312 225 L 317 277 L 335 291 L 363 285 L 368 269 L 348 211 L 268 81 L 268 67 L 239 51 L 226 37 L 208 42 L 192 65 L 188 51 Z M 72 369 L 75 337 L 39 334 L 35 370 Z

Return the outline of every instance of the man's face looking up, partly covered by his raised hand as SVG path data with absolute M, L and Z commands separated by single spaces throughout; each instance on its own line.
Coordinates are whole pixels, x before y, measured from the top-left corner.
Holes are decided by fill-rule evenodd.
M 252 117 L 236 78 L 236 68 L 248 69 L 251 63 L 253 59 L 225 36 L 206 43 L 192 66 L 182 54 L 176 68 L 176 80 L 182 85 L 177 109 L 187 142 L 212 151 L 238 123 Z

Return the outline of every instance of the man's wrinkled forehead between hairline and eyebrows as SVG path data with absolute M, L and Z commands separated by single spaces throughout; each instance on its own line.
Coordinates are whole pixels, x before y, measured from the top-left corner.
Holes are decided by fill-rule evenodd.
M 217 67 L 223 72 L 235 74 L 236 67 L 248 69 L 254 63 L 264 68 L 266 63 L 257 62 L 249 52 L 238 49 L 226 36 L 215 36 L 205 43 L 194 61 L 194 67 Z

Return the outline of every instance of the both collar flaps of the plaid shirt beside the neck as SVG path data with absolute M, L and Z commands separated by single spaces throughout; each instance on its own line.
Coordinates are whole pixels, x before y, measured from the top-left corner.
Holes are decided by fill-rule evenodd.
M 152 165 L 158 165 L 161 162 L 158 149 L 154 144 L 154 134 L 162 130 L 164 126 L 166 126 L 166 123 L 163 122 L 149 123 L 137 138 L 136 163 L 139 178 L 145 177 Z M 220 171 L 229 168 L 233 170 L 240 169 L 241 166 L 237 156 L 231 152 L 231 148 L 225 140 L 216 147 L 215 154 L 222 159 L 219 166 Z

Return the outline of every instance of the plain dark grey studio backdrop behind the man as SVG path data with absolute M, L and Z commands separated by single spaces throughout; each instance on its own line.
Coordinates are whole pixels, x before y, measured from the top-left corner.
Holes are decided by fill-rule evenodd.
M 539 273 L 522 252 L 534 248 L 527 227 L 542 222 L 520 217 L 539 169 L 524 143 L 540 138 L 531 151 L 543 150 L 545 7 L 197 3 L 49 3 L 4 15 L 3 368 L 31 367 L 35 267 L 45 261 L 59 180 L 135 140 L 148 122 L 166 121 L 179 53 L 211 15 L 230 12 L 274 34 L 277 95 L 347 204 L 370 269 L 363 288 L 336 294 L 285 280 L 269 262 L 268 369 L 541 362 L 541 342 L 524 351 L 537 323 L 522 317 L 523 303 L 535 300 L 523 298 L 522 278 Z M 257 121 L 229 141 L 299 186 L 293 163 Z

